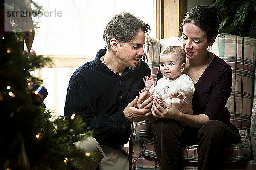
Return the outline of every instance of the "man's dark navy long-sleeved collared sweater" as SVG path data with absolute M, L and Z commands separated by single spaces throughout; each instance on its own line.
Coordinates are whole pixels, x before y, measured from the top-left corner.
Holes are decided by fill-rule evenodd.
M 106 49 L 101 49 L 94 61 L 80 66 L 71 76 L 64 115 L 66 119 L 73 112 L 81 116 L 87 127 L 94 130 L 99 144 L 115 148 L 127 143 L 131 132 L 123 109 L 144 88 L 142 78 L 151 71 L 140 60 L 137 70 L 126 68 L 122 75 L 117 75 L 100 61 L 105 53 Z

